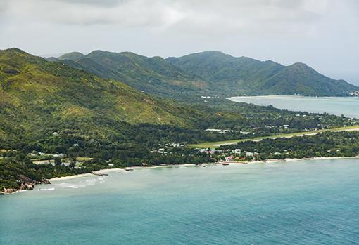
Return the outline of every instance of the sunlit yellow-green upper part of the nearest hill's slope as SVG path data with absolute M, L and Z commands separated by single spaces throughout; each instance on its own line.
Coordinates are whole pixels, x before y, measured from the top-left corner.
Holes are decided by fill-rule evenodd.
M 0 51 L 0 65 L 1 105 L 49 107 L 51 113 L 64 118 L 106 113 L 130 123 L 188 125 L 180 118 L 182 107 L 155 100 L 118 81 L 47 62 L 17 49 Z

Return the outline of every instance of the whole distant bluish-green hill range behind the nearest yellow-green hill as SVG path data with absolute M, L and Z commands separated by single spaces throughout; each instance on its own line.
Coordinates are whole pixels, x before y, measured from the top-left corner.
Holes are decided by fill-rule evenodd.
M 235 58 L 218 51 L 166 60 L 130 52 L 93 51 L 88 55 L 73 52 L 49 60 L 185 102 L 198 102 L 200 95 L 348 96 L 359 90 L 346 81 L 325 77 L 303 63 L 286 67 L 270 60 Z

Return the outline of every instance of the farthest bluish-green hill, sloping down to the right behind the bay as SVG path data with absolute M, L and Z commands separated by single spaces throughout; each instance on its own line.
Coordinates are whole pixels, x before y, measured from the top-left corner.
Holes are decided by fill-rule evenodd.
M 344 80 L 334 80 L 303 63 L 290 66 L 218 51 L 193 53 L 168 62 L 189 74 L 210 81 L 210 91 L 223 95 L 310 95 L 346 96 L 359 90 Z

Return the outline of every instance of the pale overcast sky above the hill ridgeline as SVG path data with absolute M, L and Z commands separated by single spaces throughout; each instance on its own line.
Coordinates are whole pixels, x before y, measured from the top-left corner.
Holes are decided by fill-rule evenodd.
M 359 85 L 358 0 L 0 0 L 0 49 L 34 55 L 206 50 L 305 62 Z

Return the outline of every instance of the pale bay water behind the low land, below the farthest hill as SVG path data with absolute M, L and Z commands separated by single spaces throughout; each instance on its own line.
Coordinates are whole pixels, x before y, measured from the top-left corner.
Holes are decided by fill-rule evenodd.
M 235 102 L 248 102 L 255 105 L 272 105 L 279 109 L 301 112 L 315 112 L 359 118 L 358 97 L 304 97 L 304 96 L 241 96 L 232 97 Z

